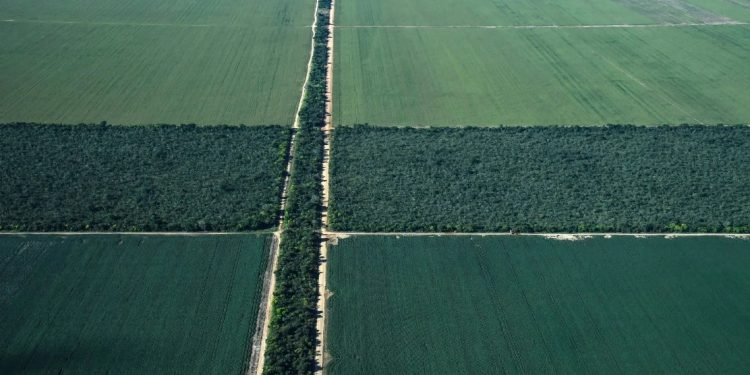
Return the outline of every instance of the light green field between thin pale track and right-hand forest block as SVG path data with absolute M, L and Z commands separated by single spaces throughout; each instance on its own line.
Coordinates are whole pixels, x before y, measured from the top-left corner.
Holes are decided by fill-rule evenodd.
M 336 29 L 334 120 L 750 122 L 750 27 Z

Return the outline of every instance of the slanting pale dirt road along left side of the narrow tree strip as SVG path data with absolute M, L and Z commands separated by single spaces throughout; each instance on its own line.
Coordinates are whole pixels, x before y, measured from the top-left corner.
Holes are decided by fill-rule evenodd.
M 266 360 L 266 341 L 268 340 L 268 332 L 271 324 L 271 309 L 273 308 L 273 291 L 276 288 L 276 270 L 278 268 L 279 258 L 279 247 L 281 246 L 281 236 L 284 233 L 284 212 L 286 211 L 286 200 L 289 191 L 289 184 L 292 175 L 292 157 L 297 149 L 297 129 L 299 129 L 299 114 L 302 110 L 302 103 L 307 96 L 307 82 L 310 80 L 310 72 L 312 70 L 312 59 L 315 48 L 315 28 L 318 22 L 318 2 L 315 2 L 315 10 L 313 12 L 313 24 L 311 26 L 312 36 L 310 38 L 310 58 L 307 62 L 307 73 L 305 74 L 305 81 L 302 83 L 302 93 L 300 95 L 299 103 L 297 104 L 297 111 L 294 114 L 294 123 L 292 124 L 292 139 L 291 145 L 289 146 L 289 153 L 287 154 L 286 174 L 284 177 L 284 188 L 281 193 L 281 209 L 279 212 L 279 227 L 274 232 L 274 242 L 271 249 L 272 259 L 269 262 L 271 271 L 268 274 L 269 281 L 263 284 L 263 294 L 260 304 L 260 312 L 258 313 L 258 323 L 256 327 L 262 327 L 258 330 L 256 328 L 256 334 L 253 336 L 252 351 L 250 352 L 250 360 L 247 368 L 248 375 L 261 375 L 263 373 L 263 366 Z M 261 321 L 262 319 L 262 321 Z

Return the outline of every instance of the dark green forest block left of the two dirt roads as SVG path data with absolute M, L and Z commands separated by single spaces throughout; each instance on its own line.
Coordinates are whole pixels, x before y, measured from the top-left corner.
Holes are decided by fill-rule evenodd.
M 289 130 L 0 125 L 0 230 L 270 228 Z

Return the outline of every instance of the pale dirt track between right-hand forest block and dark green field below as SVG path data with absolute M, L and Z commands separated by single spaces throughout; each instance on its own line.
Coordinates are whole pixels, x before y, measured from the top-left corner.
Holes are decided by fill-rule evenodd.
M 548 237 L 558 239 L 573 239 L 586 237 L 727 237 L 747 238 L 750 233 L 637 233 L 637 232 L 548 232 L 548 233 L 510 233 L 510 232 L 334 232 L 324 233 L 329 238 L 344 239 L 356 236 L 402 236 L 402 237 L 485 237 L 485 236 L 509 236 L 509 237 Z

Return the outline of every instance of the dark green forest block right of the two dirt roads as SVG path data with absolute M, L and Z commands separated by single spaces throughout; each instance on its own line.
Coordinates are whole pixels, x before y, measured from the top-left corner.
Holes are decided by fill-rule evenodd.
M 337 231 L 749 232 L 750 127 L 338 127 Z

